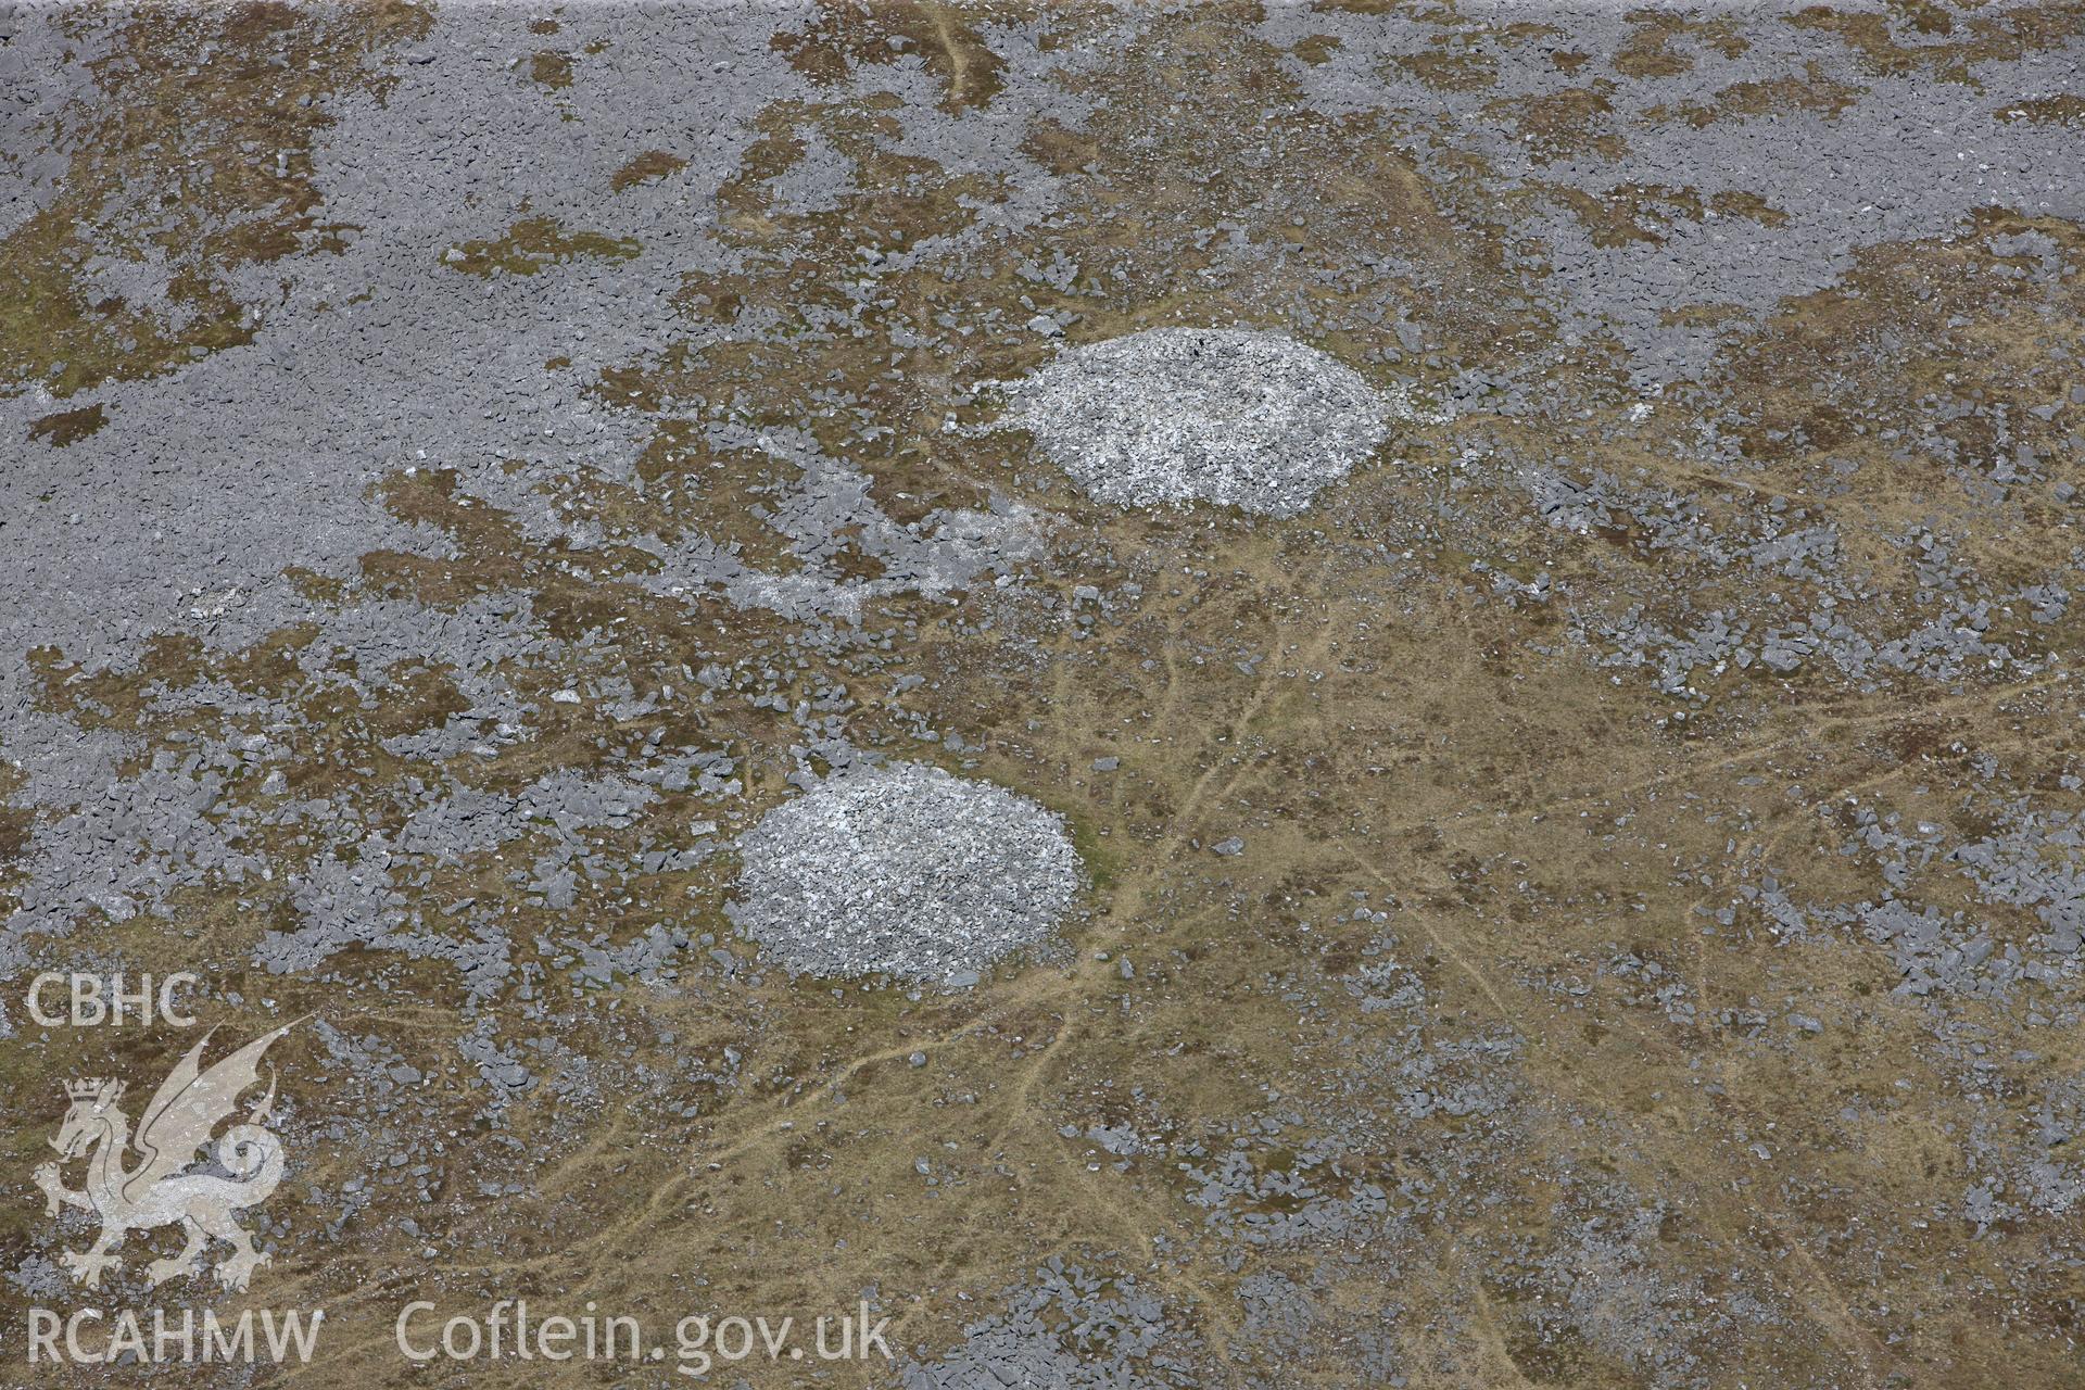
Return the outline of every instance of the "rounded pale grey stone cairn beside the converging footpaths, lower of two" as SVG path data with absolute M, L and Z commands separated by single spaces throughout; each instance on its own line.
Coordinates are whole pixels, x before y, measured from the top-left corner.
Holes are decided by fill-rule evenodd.
M 828 777 L 738 848 L 732 921 L 813 975 L 976 984 L 1057 925 L 1080 888 L 1063 817 L 915 763 Z

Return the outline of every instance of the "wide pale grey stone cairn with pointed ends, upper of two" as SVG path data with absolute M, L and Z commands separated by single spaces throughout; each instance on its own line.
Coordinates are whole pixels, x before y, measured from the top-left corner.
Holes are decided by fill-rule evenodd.
M 1005 423 L 1101 502 L 1293 517 L 1393 419 L 1412 419 L 1401 394 L 1282 333 L 1161 327 L 1059 354 L 1013 388 Z

